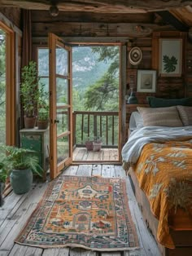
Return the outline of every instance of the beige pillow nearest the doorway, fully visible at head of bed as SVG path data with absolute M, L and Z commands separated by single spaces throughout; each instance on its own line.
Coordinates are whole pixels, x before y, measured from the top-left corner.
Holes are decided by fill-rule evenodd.
M 137 110 L 142 115 L 144 126 L 183 126 L 176 107 L 141 108 Z

